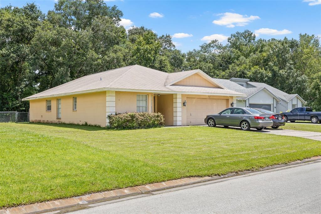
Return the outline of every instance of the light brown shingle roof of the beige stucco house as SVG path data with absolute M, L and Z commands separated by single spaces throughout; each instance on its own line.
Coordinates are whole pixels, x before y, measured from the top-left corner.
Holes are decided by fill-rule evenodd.
M 202 72 L 201 70 L 197 70 Z M 23 100 L 34 98 L 85 93 L 93 91 L 128 89 L 142 91 L 167 91 L 167 92 L 190 92 L 190 93 L 209 93 L 242 96 L 243 94 L 218 87 L 193 87 L 193 86 L 174 86 L 167 84 L 180 79 L 193 71 L 182 71 L 177 73 L 165 73 L 148 67 L 139 65 L 121 67 L 109 71 L 104 71 L 92 75 L 83 76 L 63 85 L 56 86 L 46 91 L 26 97 Z M 203 73 L 203 72 L 202 72 Z M 215 80 L 214 80 L 215 82 Z

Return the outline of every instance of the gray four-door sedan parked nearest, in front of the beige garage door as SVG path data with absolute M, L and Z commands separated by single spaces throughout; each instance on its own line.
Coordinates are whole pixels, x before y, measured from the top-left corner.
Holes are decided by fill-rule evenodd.
M 273 125 L 271 116 L 252 108 L 228 108 L 218 114 L 207 115 L 204 121 L 210 127 L 221 125 L 240 127 L 246 131 L 250 128 L 262 130 Z

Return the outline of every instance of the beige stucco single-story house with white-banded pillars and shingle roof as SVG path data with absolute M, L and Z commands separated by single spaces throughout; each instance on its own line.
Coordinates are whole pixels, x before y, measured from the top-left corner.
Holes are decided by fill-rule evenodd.
M 26 97 L 30 121 L 85 123 L 105 127 L 108 114 L 160 112 L 165 125 L 204 124 L 246 96 L 227 89 L 203 71 L 165 73 L 133 65 L 83 76 Z

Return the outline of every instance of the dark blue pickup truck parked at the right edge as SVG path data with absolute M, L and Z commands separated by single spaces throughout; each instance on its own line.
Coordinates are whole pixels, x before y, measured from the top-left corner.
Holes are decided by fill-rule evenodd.
M 290 112 L 283 112 L 285 121 L 295 122 L 296 120 L 310 120 L 312 123 L 321 123 L 321 111 L 313 111 L 310 107 L 292 109 Z

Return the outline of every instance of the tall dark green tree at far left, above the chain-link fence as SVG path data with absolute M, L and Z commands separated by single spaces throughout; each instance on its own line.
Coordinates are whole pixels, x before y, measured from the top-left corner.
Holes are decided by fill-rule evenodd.
M 44 17 L 33 3 L 0 9 L 0 111 L 27 109 L 22 98 L 36 92 L 28 62 L 30 41 Z

